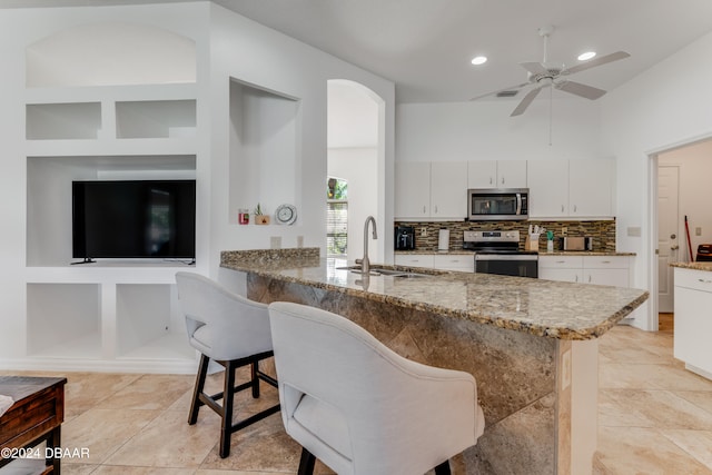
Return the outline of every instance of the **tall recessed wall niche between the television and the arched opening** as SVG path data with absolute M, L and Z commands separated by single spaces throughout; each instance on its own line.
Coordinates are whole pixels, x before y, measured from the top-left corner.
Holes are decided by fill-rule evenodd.
M 257 204 L 268 214 L 299 205 L 300 120 L 298 99 L 230 80 L 229 224 Z

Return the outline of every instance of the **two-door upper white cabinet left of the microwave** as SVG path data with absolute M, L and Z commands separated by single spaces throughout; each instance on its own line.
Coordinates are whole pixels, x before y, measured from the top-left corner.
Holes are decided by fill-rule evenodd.
M 467 162 L 395 165 L 395 217 L 464 219 L 467 214 Z

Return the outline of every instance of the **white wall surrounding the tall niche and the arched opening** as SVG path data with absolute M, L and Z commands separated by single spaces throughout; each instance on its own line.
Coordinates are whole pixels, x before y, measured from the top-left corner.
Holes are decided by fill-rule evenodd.
M 384 227 L 386 220 L 393 220 L 393 190 L 386 187 L 386 182 L 393 181 L 394 85 L 221 7 L 210 6 L 210 9 L 211 248 L 267 248 L 271 236 L 281 237 L 283 247 L 295 247 L 297 238 L 303 236 L 305 246 L 320 247 L 325 253 L 329 79 L 359 82 L 385 102 L 386 117 L 382 121 L 384 151 L 379 155 L 383 158 L 378 165 L 376 192 L 382 197 L 378 202 L 379 225 Z M 228 224 L 229 78 L 299 100 L 297 155 L 300 177 L 294 202 L 299 218 L 295 226 Z M 384 245 L 378 243 L 378 246 L 383 249 Z M 216 253 L 211 258 L 212 268 L 217 269 L 219 256 Z

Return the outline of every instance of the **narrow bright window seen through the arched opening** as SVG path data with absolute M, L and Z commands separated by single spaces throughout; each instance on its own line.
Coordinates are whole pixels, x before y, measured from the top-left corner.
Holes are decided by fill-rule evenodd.
M 326 182 L 326 255 L 346 257 L 348 245 L 348 182 L 329 177 Z

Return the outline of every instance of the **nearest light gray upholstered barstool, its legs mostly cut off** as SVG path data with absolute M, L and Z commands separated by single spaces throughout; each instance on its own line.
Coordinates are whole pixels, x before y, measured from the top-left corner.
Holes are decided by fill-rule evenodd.
M 484 431 L 475 378 L 406 359 L 355 323 L 275 303 L 269 319 L 281 418 L 301 447 L 339 475 L 414 475 L 475 445 Z

